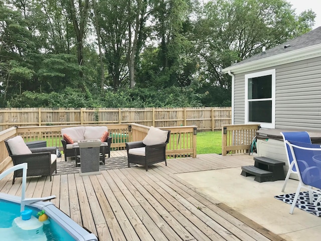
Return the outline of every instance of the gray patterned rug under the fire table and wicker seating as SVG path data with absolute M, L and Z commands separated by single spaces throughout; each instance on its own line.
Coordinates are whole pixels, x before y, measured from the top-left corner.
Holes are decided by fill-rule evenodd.
M 106 158 L 105 165 L 99 165 L 100 170 L 111 170 L 128 167 L 127 157 L 111 157 Z M 64 175 L 79 173 L 80 166 L 76 167 L 75 160 L 67 160 L 67 162 L 57 162 L 57 174 L 54 175 Z

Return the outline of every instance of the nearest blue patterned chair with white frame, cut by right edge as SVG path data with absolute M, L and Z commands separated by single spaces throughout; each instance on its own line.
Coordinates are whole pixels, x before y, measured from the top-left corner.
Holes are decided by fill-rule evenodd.
M 321 146 L 309 143 L 285 142 L 290 148 L 293 158 L 292 163 L 299 178 L 299 184 L 290 209 L 292 214 L 302 188 L 308 190 L 310 203 L 316 206 L 321 200 Z M 313 200 L 313 193 L 319 195 L 315 201 Z

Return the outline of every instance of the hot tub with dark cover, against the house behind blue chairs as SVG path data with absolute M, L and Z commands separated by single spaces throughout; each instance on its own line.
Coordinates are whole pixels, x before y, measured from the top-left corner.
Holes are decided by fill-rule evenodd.
M 286 176 L 289 166 L 281 132 L 302 131 L 306 131 L 310 135 L 312 143 L 321 144 L 321 131 L 307 129 L 261 129 L 256 131 L 257 155 L 284 162 L 284 174 Z M 290 175 L 290 178 L 298 180 L 297 175 L 293 173 Z

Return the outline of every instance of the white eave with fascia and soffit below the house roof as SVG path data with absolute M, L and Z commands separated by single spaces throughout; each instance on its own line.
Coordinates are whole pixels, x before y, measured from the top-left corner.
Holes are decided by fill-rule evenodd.
M 321 56 L 321 44 L 309 46 L 306 48 L 293 50 L 291 52 L 278 54 L 275 56 L 259 59 L 236 66 L 229 66 L 222 69 L 223 73 L 228 73 L 230 70 L 233 74 L 244 73 L 253 70 L 270 68 L 281 64 L 292 63 L 300 60 L 311 59 Z

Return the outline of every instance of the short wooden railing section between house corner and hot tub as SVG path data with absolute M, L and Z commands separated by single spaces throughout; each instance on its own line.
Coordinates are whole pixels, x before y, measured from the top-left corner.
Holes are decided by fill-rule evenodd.
M 248 153 L 260 125 L 223 125 L 222 155 Z

